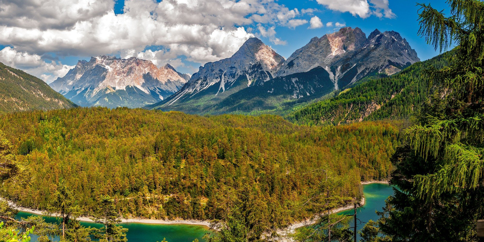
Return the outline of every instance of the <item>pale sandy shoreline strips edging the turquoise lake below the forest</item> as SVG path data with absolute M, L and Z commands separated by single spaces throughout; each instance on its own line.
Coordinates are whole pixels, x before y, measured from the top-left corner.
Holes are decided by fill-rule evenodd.
M 361 182 L 362 185 L 371 184 L 371 183 L 388 184 L 388 181 L 362 181 Z M 35 209 L 30 209 L 30 208 L 18 206 L 14 202 L 7 200 L 7 199 L 4 199 L 4 198 L 1 198 L 1 197 L 0 197 L 0 200 L 6 201 L 11 207 L 15 208 L 18 211 L 29 212 L 29 213 L 33 213 L 33 214 L 37 214 L 37 215 L 45 215 L 44 214 L 45 211 L 35 210 Z M 360 201 L 360 204 L 363 206 L 364 203 L 365 203 L 365 199 L 364 199 L 364 196 L 363 196 L 361 201 Z M 345 207 L 334 209 L 332 211 L 332 213 L 341 212 L 341 211 L 349 210 L 349 209 L 352 209 L 352 208 L 353 208 L 352 205 L 347 205 Z M 52 214 L 52 216 L 58 217 L 58 214 Z M 197 225 L 197 226 L 204 226 L 204 227 L 211 228 L 209 221 L 201 221 L 201 220 L 159 220 L 159 219 L 143 219 L 143 218 L 128 218 L 128 219 L 120 218 L 120 219 L 121 219 L 121 223 L 140 223 L 140 224 L 158 224 L 158 225 L 177 225 L 177 224 L 179 224 L 179 225 Z M 86 216 L 81 216 L 81 217 L 77 218 L 77 220 L 82 221 L 82 222 L 91 222 L 91 223 L 94 222 L 90 217 L 86 217 Z M 288 234 L 287 232 L 292 231 L 292 233 L 293 233 L 296 228 L 311 225 L 311 224 L 314 224 L 314 223 L 316 223 L 316 221 L 313 221 L 313 220 L 310 220 L 310 219 L 300 221 L 300 222 L 295 222 L 292 225 L 288 226 L 287 228 L 281 230 L 281 232 L 284 233 L 284 234 Z

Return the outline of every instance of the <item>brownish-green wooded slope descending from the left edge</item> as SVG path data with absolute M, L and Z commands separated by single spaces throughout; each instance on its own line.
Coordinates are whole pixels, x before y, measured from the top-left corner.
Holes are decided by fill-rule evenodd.
M 43 80 L 0 62 L 0 111 L 75 107 Z

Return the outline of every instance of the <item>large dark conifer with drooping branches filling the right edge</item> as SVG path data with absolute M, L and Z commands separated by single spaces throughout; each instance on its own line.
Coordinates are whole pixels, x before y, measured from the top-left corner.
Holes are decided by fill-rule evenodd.
M 395 191 L 381 230 L 393 241 L 476 241 L 484 217 L 484 2 L 448 0 L 452 16 L 420 4 L 421 34 L 449 66 L 429 68 L 433 94 L 395 156 Z

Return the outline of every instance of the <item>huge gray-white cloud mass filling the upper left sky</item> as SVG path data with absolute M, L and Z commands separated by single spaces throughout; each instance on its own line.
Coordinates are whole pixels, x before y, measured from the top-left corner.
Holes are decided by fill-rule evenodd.
M 136 56 L 181 66 L 181 56 L 197 63 L 230 57 L 251 28 L 266 31 L 274 44 L 275 26 L 296 28 L 298 16 L 314 9 L 289 9 L 273 0 L 125 0 L 114 14 L 114 0 L 0 0 L 0 45 L 43 56 Z M 273 28 L 274 27 L 274 28 Z M 146 50 L 163 46 L 163 50 Z M 57 63 L 59 65 L 59 63 Z

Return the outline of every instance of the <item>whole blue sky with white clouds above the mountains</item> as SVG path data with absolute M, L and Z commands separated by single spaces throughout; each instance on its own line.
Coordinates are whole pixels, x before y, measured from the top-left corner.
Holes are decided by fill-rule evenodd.
M 99 55 L 191 75 L 250 37 L 288 58 L 343 27 L 397 31 L 423 61 L 439 52 L 417 35 L 419 8 L 412 0 L 0 0 L 0 62 L 47 83 Z

